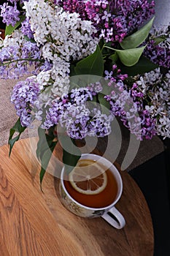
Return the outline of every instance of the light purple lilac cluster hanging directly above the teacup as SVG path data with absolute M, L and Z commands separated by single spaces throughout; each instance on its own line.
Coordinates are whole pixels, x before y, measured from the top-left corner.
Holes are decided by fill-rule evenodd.
M 60 124 L 66 128 L 69 137 L 82 139 L 87 135 L 104 137 L 111 132 L 112 113 L 104 114 L 101 106 L 89 105 L 96 95 L 86 88 L 72 89 L 69 94 L 53 101 L 48 110 L 43 128 L 49 129 Z

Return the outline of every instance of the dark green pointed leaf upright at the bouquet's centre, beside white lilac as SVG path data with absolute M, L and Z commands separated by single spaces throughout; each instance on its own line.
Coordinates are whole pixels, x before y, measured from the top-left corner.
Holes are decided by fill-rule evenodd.
M 104 60 L 99 46 L 90 56 L 79 61 L 74 68 L 76 75 L 98 75 L 104 72 Z

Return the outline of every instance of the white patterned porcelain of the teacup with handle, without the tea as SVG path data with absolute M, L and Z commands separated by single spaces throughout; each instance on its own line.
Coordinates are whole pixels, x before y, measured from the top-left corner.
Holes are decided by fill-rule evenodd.
M 120 211 L 115 208 L 115 204 L 120 200 L 120 197 L 123 192 L 123 181 L 120 176 L 119 171 L 115 167 L 115 165 L 112 164 L 112 162 L 109 162 L 104 157 L 101 157 L 96 154 L 82 154 L 80 160 L 88 159 L 92 160 L 94 162 L 97 162 L 97 164 L 102 165 L 102 167 L 105 168 L 104 171 L 111 171 L 112 175 L 115 178 L 116 184 L 117 184 L 117 192 L 115 195 L 115 198 L 113 198 L 112 203 L 109 203 L 107 206 L 100 206 L 100 207 L 93 207 L 93 206 L 85 206 L 85 204 L 78 202 L 74 199 L 73 195 L 70 195 L 68 192 L 68 189 L 66 189 L 66 184 L 64 183 L 64 180 L 66 179 L 66 172 L 65 168 L 61 170 L 61 179 L 59 184 L 59 193 L 60 193 L 60 200 L 63 206 L 65 206 L 69 211 L 71 211 L 73 214 L 76 214 L 79 217 L 85 217 L 85 218 L 95 218 L 95 217 L 101 217 L 105 219 L 107 222 L 109 222 L 109 225 L 112 225 L 112 227 L 115 227 L 117 229 L 121 229 L 125 226 L 125 219 L 122 214 L 120 214 Z M 108 181 L 109 182 L 109 181 Z M 98 194 L 99 196 L 99 194 Z

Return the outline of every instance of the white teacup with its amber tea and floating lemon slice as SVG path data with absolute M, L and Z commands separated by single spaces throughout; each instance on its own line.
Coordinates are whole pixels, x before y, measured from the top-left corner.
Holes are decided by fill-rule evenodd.
M 115 208 L 123 191 L 117 168 L 104 157 L 82 154 L 77 166 L 66 174 L 63 167 L 59 185 L 61 203 L 80 217 L 102 217 L 120 229 L 125 219 Z

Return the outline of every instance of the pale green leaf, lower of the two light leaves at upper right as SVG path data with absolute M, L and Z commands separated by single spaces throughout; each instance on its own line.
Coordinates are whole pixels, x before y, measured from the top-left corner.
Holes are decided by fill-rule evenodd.
M 142 56 L 142 53 L 144 51 L 144 48 L 146 45 L 140 48 L 133 48 L 133 49 L 126 49 L 126 50 L 117 50 L 114 49 L 119 56 L 120 61 L 125 66 L 131 67 L 134 66 L 139 61 L 140 56 Z

